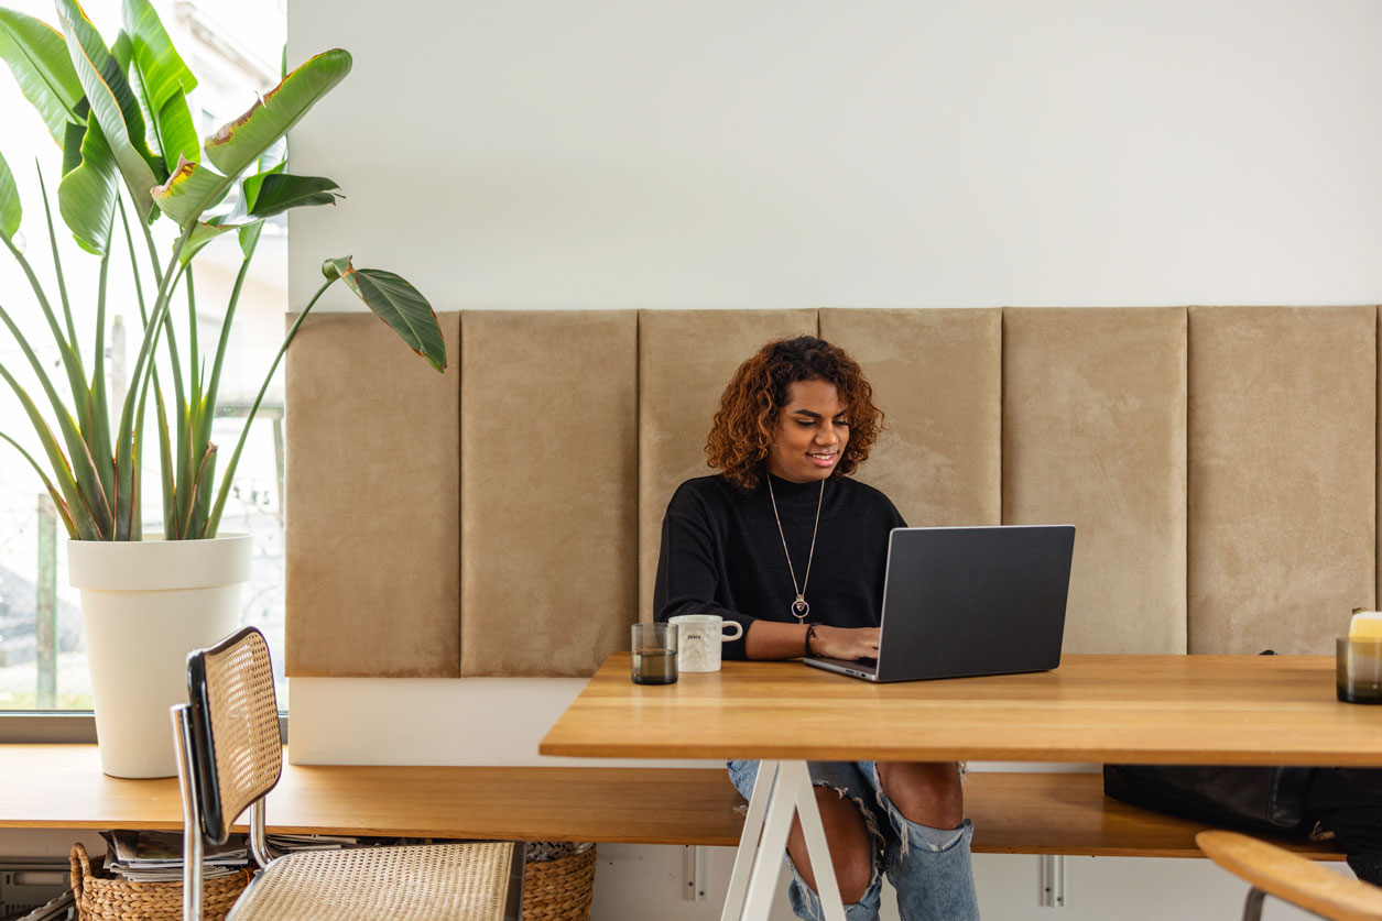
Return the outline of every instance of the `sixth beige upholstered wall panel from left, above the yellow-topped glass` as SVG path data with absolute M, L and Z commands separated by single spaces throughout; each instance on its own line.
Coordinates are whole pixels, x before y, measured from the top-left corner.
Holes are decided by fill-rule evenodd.
M 1329 653 L 1375 583 L 1376 311 L 1190 309 L 1190 650 Z

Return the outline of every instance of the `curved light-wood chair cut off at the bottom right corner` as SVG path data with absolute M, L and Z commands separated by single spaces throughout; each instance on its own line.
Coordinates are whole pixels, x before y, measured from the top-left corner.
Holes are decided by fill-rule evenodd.
M 1262 902 L 1269 895 L 1332 921 L 1382 921 L 1378 886 L 1236 831 L 1201 831 L 1195 844 L 1220 867 L 1252 884 L 1244 921 L 1262 917 Z

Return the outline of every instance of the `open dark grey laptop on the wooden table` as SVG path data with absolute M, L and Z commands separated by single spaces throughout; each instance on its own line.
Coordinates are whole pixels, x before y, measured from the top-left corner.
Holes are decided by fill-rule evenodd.
M 803 661 L 875 682 L 1049 671 L 1074 547 L 1074 525 L 894 527 L 878 659 Z

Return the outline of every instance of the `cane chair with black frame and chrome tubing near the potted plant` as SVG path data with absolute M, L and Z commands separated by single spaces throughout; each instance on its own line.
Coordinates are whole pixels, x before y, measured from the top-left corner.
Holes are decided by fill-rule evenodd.
M 514 921 L 524 848 L 514 842 L 305 851 L 269 859 L 264 799 L 283 772 L 268 643 L 246 627 L 188 656 L 189 703 L 173 707 L 182 787 L 182 918 L 202 917 L 205 842 L 250 811 L 261 867 L 227 921 Z

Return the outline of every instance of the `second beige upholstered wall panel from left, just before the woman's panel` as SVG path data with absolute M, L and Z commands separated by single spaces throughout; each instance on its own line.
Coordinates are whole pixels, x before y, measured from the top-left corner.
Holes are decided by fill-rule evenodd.
M 462 316 L 463 675 L 589 675 L 627 648 L 637 320 Z

